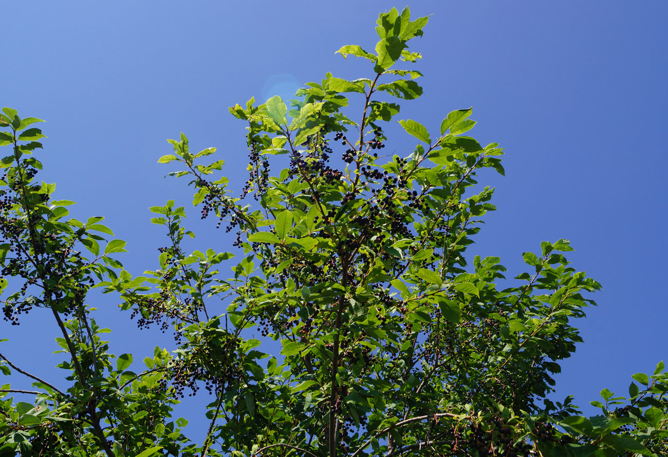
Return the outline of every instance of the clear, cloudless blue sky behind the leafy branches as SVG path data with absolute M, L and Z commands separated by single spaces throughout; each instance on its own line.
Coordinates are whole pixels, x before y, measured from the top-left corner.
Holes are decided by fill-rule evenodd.
M 188 205 L 186 182 L 163 179 L 167 138 L 183 131 L 196 150 L 216 146 L 232 187 L 246 179 L 244 125 L 227 108 L 251 96 L 291 95 L 327 71 L 355 79 L 369 66 L 334 51 L 373 49 L 377 14 L 389 1 L 11 1 L 3 3 L 0 105 L 45 119 L 39 157 L 58 199 L 78 218 L 104 215 L 128 241 L 120 258 L 155 269 L 160 227 L 148 207 Z M 609 388 L 627 394 L 631 375 L 668 359 L 665 280 L 668 222 L 668 3 L 665 1 L 412 1 L 432 15 L 411 41 L 424 60 L 423 97 L 401 119 L 438 129 L 453 109 L 473 106 L 481 143 L 506 149 L 506 177 L 470 256 L 501 256 L 510 272 L 542 240 L 568 238 L 574 267 L 603 285 L 598 308 L 576 323 L 585 344 L 562 363 L 556 400 L 568 394 L 588 414 Z M 407 155 L 413 141 L 395 144 Z M 403 153 L 402 152 L 405 152 Z M 187 206 L 186 206 L 187 207 Z M 231 238 L 191 209 L 193 249 L 231 250 Z M 514 275 L 511 275 L 514 276 Z M 170 337 L 136 329 L 116 296 L 91 296 L 112 350 L 136 366 Z M 33 312 L 19 328 L 0 323 L 0 351 L 57 380 L 55 326 Z M 667 360 L 668 362 L 668 360 Z M 139 368 L 137 368 L 139 369 Z M 15 379 L 14 382 L 17 382 Z M 21 380 L 23 381 L 23 380 Z M 54 381 L 58 384 L 57 381 Z M 17 384 L 18 386 L 19 384 Z M 29 384 L 25 384 L 28 386 Z M 180 408 L 194 419 L 200 402 Z M 589 407 L 588 407 L 589 406 Z M 189 432 L 203 436 L 202 422 Z

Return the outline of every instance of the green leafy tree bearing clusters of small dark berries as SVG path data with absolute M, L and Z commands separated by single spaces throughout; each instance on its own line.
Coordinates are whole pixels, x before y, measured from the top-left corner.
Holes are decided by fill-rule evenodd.
M 478 171 L 504 173 L 498 144 L 462 135 L 475 125 L 471 109 L 449 113 L 438 134 L 400 120 L 419 143 L 383 155 L 400 109 L 383 100 L 422 95 L 420 71 L 394 65 L 420 59 L 407 42 L 427 21 L 391 9 L 379 15 L 375 53 L 339 49 L 369 61 L 368 79 L 327 73 L 297 91 L 290 111 L 280 97 L 231 107 L 248 124 L 240 197 L 222 160 L 202 163 L 215 148 L 191 153 L 185 135 L 169 140 L 174 153 L 160 163 L 183 168 L 169 174 L 190 178 L 202 218 L 236 232 L 228 279 L 219 269 L 235 254 L 184 252 L 194 235 L 174 201 L 151 208 L 168 236 L 160 268 L 123 270 L 125 242 L 107 242 L 102 217 L 67 219 L 73 202 L 35 180 L 44 135 L 27 127 L 40 119 L 3 109 L 0 286 L 15 290 L 3 298 L 5 321 L 53 315 L 69 387 L 0 353 L 3 374 L 34 381 L 0 389 L 0 456 L 665 455 L 663 362 L 633 375 L 629 398 L 604 389 L 592 418 L 570 397 L 546 398 L 558 360 L 580 342 L 572 320 L 600 288 L 569 266 L 567 240 L 524 253 L 528 272 L 505 288 L 499 258 L 466 258 L 495 209 Z M 277 175 L 275 155 L 289 157 Z M 173 328 L 178 348 L 156 347 L 145 370 L 128 370 L 132 355 L 110 354 L 108 330 L 92 318 L 94 287 L 118 293 L 140 327 Z M 263 352 L 278 345 L 280 354 Z M 170 412 L 201 386 L 213 398 L 210 426 L 194 444 Z

